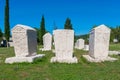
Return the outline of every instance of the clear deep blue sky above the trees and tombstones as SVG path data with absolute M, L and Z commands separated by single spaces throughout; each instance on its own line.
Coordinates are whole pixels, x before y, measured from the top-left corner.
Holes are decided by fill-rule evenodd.
M 42 14 L 46 30 L 52 33 L 54 22 L 63 29 L 67 17 L 76 35 L 87 34 L 93 25 L 120 25 L 120 0 L 9 0 L 10 27 L 24 24 L 40 26 Z M 4 31 L 5 0 L 0 0 L 0 28 Z

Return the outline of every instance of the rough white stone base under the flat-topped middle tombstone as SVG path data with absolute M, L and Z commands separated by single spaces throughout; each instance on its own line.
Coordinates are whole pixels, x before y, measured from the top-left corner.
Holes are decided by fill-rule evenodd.
M 57 58 L 57 57 L 52 57 L 51 58 L 51 63 L 54 63 L 54 62 L 59 62 L 59 63 L 78 63 L 78 60 L 76 57 L 73 57 L 73 58 Z

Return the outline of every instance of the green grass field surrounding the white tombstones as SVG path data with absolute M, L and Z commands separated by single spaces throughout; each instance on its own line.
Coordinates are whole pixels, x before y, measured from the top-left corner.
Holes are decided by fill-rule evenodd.
M 119 50 L 117 46 L 112 44 L 110 49 Z M 14 56 L 14 50 L 0 48 L 0 80 L 120 80 L 120 56 L 113 56 L 119 59 L 115 62 L 90 63 L 82 57 L 88 52 L 75 49 L 79 63 L 60 64 L 50 63 L 52 51 L 37 53 L 46 56 L 34 63 L 5 64 L 5 58 Z

